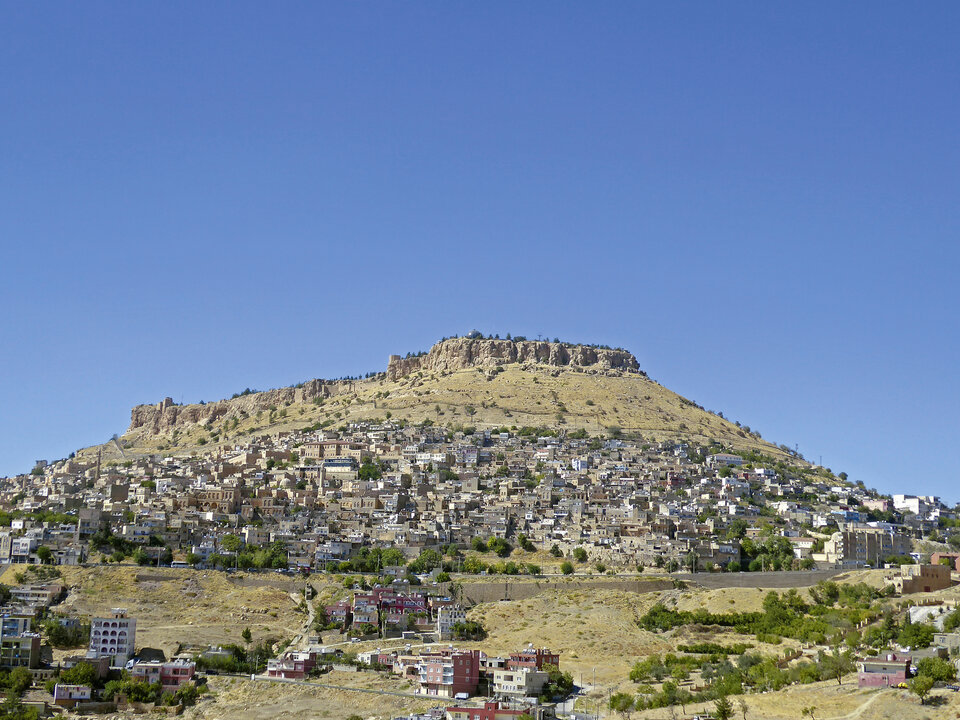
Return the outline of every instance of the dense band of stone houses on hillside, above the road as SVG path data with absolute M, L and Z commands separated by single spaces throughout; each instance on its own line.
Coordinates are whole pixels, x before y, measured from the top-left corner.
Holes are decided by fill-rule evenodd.
M 364 548 L 394 548 L 400 566 L 523 538 L 621 570 L 879 567 L 956 517 L 936 497 L 883 496 L 800 461 L 615 435 L 387 421 L 208 454 L 38 461 L 2 481 L 0 562 L 135 551 L 141 564 L 249 567 L 247 550 L 269 546 L 273 568 L 324 570 Z

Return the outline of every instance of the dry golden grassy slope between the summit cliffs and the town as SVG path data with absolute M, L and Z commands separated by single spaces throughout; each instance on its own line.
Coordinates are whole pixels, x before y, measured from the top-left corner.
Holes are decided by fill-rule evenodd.
M 635 373 L 509 364 L 496 374 L 477 368 L 418 372 L 395 382 L 359 381 L 355 387 L 355 392 L 329 398 L 322 405 L 308 401 L 278 408 L 272 419 L 267 412 L 238 418 L 236 428 L 227 418 L 209 428 L 185 426 L 176 439 L 170 432 L 153 435 L 143 430 L 129 432 L 123 439 L 131 454 L 158 449 L 208 452 L 214 442 L 224 444 L 226 440 L 232 445 L 252 435 L 302 428 L 320 421 L 331 421 L 336 427 L 352 420 L 383 418 L 389 412 L 395 419 L 414 423 L 431 420 L 445 426 L 532 425 L 585 428 L 594 434 L 617 426 L 651 440 L 719 440 L 734 447 L 783 456 L 776 446 Z M 285 416 L 280 417 L 280 413 Z M 201 446 L 201 438 L 209 442 Z M 120 459 L 112 443 L 101 447 L 105 460 Z M 96 448 L 88 448 L 82 454 L 95 451 Z

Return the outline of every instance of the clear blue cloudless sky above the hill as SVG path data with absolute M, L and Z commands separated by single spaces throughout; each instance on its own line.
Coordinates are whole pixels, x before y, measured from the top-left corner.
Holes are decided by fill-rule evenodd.
M 960 500 L 960 6 L 0 5 L 0 474 L 443 335 Z

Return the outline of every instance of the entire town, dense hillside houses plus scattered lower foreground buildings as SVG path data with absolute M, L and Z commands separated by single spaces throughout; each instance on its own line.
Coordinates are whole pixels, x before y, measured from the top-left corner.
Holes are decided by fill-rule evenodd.
M 0 563 L 31 573 L 7 591 L 0 666 L 26 668 L 66 708 L 182 706 L 210 672 L 296 682 L 337 668 L 409 681 L 414 695 L 451 703 L 437 712 L 454 720 L 551 717 L 575 691 L 563 659 L 532 646 L 487 653 L 455 578 L 889 567 L 890 593 L 910 595 L 950 587 L 960 569 L 949 551 L 960 545 L 956 516 L 936 497 L 886 497 L 799 458 L 615 430 L 386 420 L 281 432 L 205 454 L 38 461 L 3 481 L 0 502 Z M 923 539 L 946 544 L 925 554 Z M 256 659 L 220 647 L 154 657 L 139 652 L 137 618 L 123 608 L 55 610 L 67 591 L 56 566 L 131 561 L 347 574 L 351 595 L 310 602 L 307 632 Z M 87 652 L 51 662 L 50 622 L 86 623 Z M 405 644 L 371 649 L 386 640 Z M 937 645 L 952 646 L 954 633 Z M 904 683 L 912 662 L 902 651 L 865 656 L 860 684 Z

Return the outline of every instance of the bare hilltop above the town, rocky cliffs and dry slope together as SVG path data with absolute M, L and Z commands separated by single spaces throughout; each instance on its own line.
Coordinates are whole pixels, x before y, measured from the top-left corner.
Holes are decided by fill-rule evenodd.
M 386 372 L 365 379 L 311 380 L 206 404 L 177 405 L 167 398 L 138 405 L 120 443 L 134 454 L 205 451 L 255 435 L 385 418 L 446 427 L 620 431 L 784 454 L 650 380 L 626 350 L 479 337 L 393 355 Z M 101 450 L 115 452 L 112 443 Z

